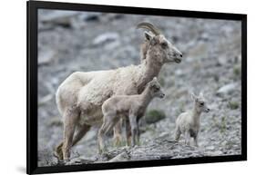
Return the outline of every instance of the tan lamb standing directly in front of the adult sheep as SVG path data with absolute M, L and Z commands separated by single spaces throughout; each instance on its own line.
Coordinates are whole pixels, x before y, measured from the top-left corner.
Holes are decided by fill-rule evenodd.
M 121 117 L 129 122 L 131 127 L 131 146 L 139 142 L 138 121 L 144 115 L 148 103 L 154 97 L 163 98 L 165 94 L 160 89 L 160 84 L 155 77 L 148 83 L 144 92 L 136 95 L 116 95 L 109 98 L 102 105 L 102 112 L 104 115 L 103 124 L 98 131 L 97 139 L 99 146 L 99 153 L 107 151 L 105 147 L 105 135 L 108 131 L 112 131 Z M 128 123 L 126 123 L 127 131 L 127 145 L 128 145 Z

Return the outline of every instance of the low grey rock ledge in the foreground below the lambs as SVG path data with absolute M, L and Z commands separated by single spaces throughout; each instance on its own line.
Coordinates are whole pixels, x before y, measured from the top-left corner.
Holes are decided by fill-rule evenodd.
M 201 148 L 187 146 L 184 141 L 173 141 L 167 136 L 149 141 L 147 145 L 122 147 L 112 151 L 97 154 L 91 158 L 77 156 L 68 162 L 57 161 L 53 165 L 76 165 L 102 162 L 132 161 L 132 160 L 169 160 L 191 157 L 223 155 L 222 151 L 212 151 L 210 147 Z

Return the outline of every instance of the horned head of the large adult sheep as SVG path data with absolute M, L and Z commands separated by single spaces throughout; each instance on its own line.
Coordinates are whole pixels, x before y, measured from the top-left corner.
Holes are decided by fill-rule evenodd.
M 147 54 L 152 55 L 150 58 L 157 59 L 154 60 L 155 62 L 161 64 L 181 62 L 182 53 L 159 32 L 155 25 L 143 22 L 138 24 L 137 28 L 144 28 L 149 31 L 144 33 L 147 41 Z

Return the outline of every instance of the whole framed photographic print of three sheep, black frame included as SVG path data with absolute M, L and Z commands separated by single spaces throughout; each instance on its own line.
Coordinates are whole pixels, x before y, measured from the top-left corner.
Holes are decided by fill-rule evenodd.
M 27 2 L 27 173 L 247 160 L 247 16 Z

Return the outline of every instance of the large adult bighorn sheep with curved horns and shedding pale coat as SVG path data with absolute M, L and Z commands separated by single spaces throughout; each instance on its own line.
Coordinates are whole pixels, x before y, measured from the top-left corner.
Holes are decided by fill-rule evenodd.
M 58 87 L 56 104 L 64 123 L 64 138 L 56 147 L 60 160 L 69 160 L 71 147 L 92 125 L 102 123 L 101 106 L 109 97 L 141 93 L 146 84 L 159 75 L 164 63 L 181 62 L 182 53 L 156 26 L 144 22 L 137 27 L 149 31 L 145 32 L 140 64 L 108 71 L 72 73 Z

